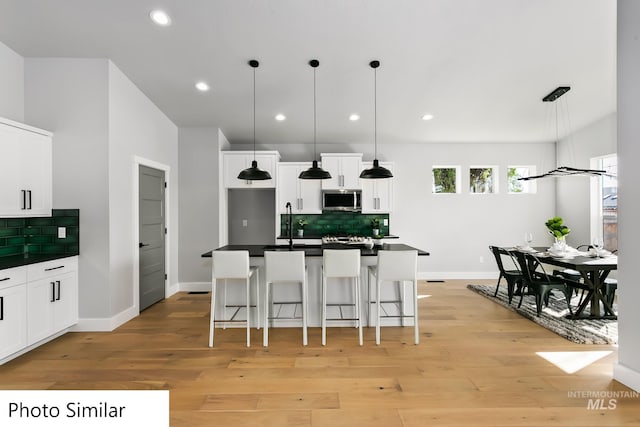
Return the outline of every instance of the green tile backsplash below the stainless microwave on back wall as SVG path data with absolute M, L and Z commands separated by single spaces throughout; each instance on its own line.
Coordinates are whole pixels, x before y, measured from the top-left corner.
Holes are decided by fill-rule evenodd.
M 358 212 L 324 212 L 317 215 L 294 214 L 293 236 L 297 236 L 298 220 L 304 218 L 307 225 L 304 227 L 304 236 L 318 238 L 322 236 L 372 236 L 370 221 L 378 218 L 380 221 L 380 234 L 389 234 L 389 214 L 361 214 Z M 384 220 L 387 225 L 384 225 Z M 288 233 L 288 216 L 280 215 L 280 235 Z

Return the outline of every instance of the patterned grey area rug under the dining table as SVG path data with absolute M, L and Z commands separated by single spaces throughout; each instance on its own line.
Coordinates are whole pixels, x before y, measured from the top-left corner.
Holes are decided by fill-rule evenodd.
M 544 307 L 540 316 L 536 315 L 536 300 L 533 295 L 525 296 L 522 306 L 518 308 L 519 296 L 514 296 L 511 304 L 507 296 L 507 286 L 501 285 L 498 295 L 493 296 L 495 285 L 467 285 L 467 288 L 490 300 L 506 307 L 516 313 L 533 320 L 550 331 L 555 332 L 580 344 L 617 344 L 618 343 L 618 321 L 607 319 L 580 319 L 571 320 L 565 316 L 569 314 L 564 295 L 552 293 L 549 297 L 549 306 Z M 579 297 L 576 296 L 571 302 L 572 307 L 578 306 Z M 613 309 L 616 310 L 614 304 Z

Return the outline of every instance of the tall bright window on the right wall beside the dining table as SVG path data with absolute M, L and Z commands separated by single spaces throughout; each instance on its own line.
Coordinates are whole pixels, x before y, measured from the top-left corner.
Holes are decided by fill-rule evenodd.
M 604 247 L 614 251 L 618 249 L 618 157 L 596 157 L 591 167 L 608 174 L 591 180 L 591 238 L 602 238 Z

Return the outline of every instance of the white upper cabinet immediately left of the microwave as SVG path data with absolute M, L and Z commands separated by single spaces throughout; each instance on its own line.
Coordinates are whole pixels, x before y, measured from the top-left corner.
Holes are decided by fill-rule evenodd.
M 278 164 L 278 210 L 287 213 L 287 202 L 293 213 L 322 213 L 321 179 L 300 179 L 298 176 L 311 167 L 310 162 L 287 162 Z

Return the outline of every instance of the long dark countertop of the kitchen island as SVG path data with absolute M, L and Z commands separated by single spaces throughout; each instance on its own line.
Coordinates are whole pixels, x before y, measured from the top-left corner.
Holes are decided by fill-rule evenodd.
M 323 249 L 360 249 L 360 254 L 362 256 L 378 256 L 379 250 L 385 251 L 409 251 L 409 250 L 417 250 L 418 256 L 429 256 L 429 252 L 425 252 L 421 249 L 414 248 L 409 245 L 405 245 L 402 243 L 385 243 L 381 246 L 374 246 L 371 249 L 367 249 L 362 245 L 350 245 L 344 243 L 328 243 L 323 245 L 293 245 L 294 251 L 304 251 L 305 256 L 307 257 L 321 257 Z M 250 257 L 264 257 L 265 251 L 288 251 L 288 245 L 227 245 L 222 246 L 221 248 L 215 249 L 216 251 L 249 251 Z M 211 257 L 211 252 L 209 251 L 202 254 L 202 257 Z

